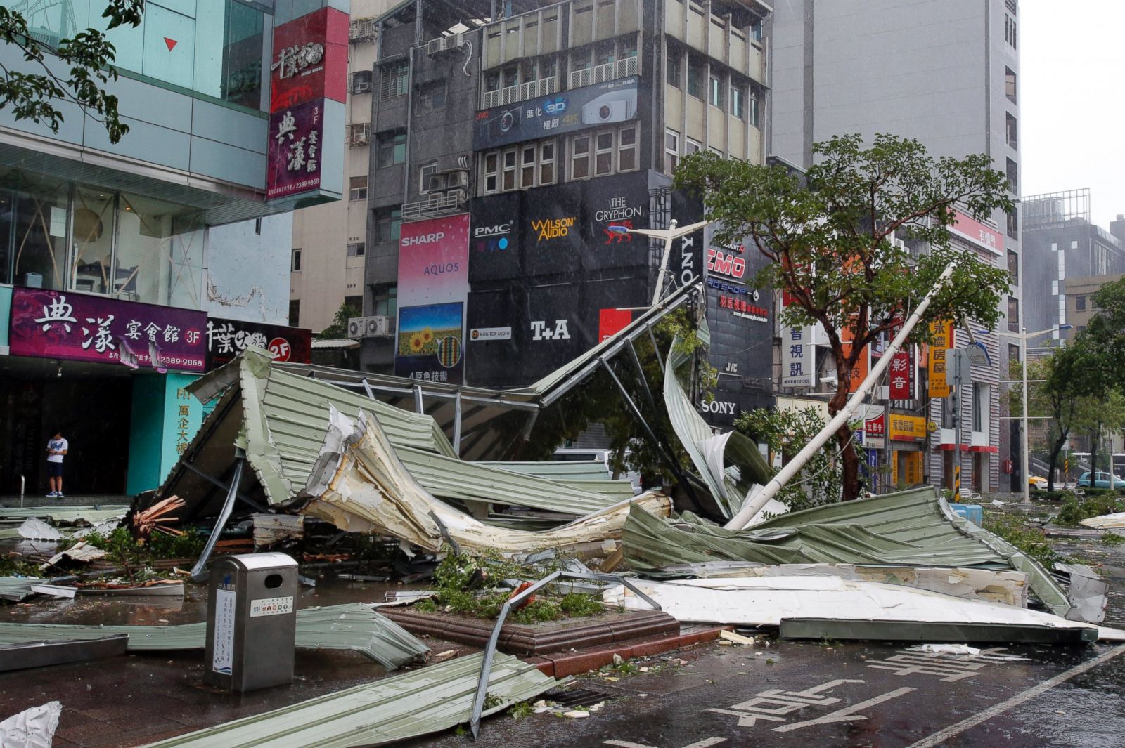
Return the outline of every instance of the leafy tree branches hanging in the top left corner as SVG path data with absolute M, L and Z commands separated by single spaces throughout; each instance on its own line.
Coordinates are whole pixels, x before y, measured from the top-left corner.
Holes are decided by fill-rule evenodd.
M 106 31 L 138 26 L 143 11 L 144 0 L 108 0 L 101 13 L 107 19 Z M 57 133 L 63 121 L 57 103 L 71 101 L 87 112 L 94 112 L 94 119 L 100 118 L 110 143 L 120 140 L 129 127 L 118 119 L 117 97 L 106 93 L 102 88 L 117 80 L 117 71 L 111 66 L 116 51 L 106 38 L 106 31 L 75 30 L 71 37 L 51 46 L 32 35 L 22 12 L 0 7 L 0 40 L 20 49 L 24 62 L 33 71 L 0 65 L 0 109 L 11 107 L 17 120 L 46 122 Z M 61 67 L 66 66 L 70 70 L 63 72 Z

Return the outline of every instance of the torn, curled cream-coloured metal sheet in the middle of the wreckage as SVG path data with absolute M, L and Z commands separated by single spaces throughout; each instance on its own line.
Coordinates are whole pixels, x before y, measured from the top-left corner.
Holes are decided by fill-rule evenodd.
M 358 422 L 331 410 L 328 435 L 304 494 L 302 512 L 350 532 L 388 535 L 430 551 L 449 540 L 466 550 L 522 553 L 619 538 L 630 505 L 667 514 L 666 496 L 648 492 L 543 531 L 508 530 L 479 522 L 430 494 L 406 468 L 379 422 Z

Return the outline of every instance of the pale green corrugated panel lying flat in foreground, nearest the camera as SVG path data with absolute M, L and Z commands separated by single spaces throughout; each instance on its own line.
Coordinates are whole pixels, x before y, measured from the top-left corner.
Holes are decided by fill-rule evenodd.
M 483 655 L 431 665 L 413 673 L 339 691 L 255 714 L 147 748 L 351 748 L 382 746 L 468 722 Z M 550 690 L 556 681 L 510 655 L 492 660 L 488 694 L 498 699 L 484 714 Z

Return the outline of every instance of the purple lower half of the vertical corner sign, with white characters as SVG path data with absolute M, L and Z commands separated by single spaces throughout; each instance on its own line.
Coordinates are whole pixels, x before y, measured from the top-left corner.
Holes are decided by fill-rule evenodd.
M 323 137 L 323 100 L 281 109 L 270 116 L 267 200 L 313 192 L 321 188 Z

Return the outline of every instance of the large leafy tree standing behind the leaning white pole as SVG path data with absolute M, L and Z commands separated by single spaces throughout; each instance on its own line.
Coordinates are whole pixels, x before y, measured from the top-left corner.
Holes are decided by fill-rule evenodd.
M 804 182 L 783 166 L 701 153 L 681 161 L 675 184 L 702 192 L 706 218 L 718 222 L 716 244 L 746 240 L 770 261 L 756 282 L 792 299 L 786 325 L 824 326 L 836 362 L 828 404 L 835 416 L 866 346 L 896 330 L 950 263 L 952 282 L 935 295 L 914 339 L 929 340 L 928 321 L 996 323 L 1009 289 L 1007 270 L 951 247 L 947 229 L 956 222 L 955 208 L 980 219 L 1014 206 L 1007 180 L 987 155 L 935 159 L 918 140 L 892 135 L 876 135 L 870 148 L 858 135 L 834 137 L 813 145 L 813 153 L 818 161 Z M 894 238 L 928 248 L 903 248 Z M 836 432 L 845 500 L 860 494 L 850 440 L 845 425 Z

